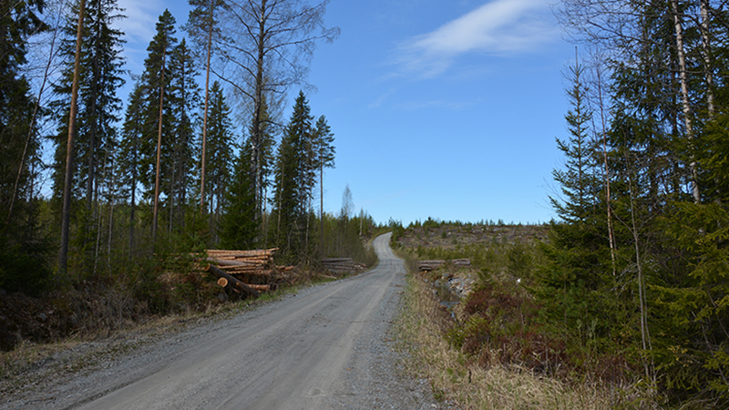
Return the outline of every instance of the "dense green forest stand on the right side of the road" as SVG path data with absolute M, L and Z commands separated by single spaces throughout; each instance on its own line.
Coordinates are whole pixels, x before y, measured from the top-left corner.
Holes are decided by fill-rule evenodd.
M 627 359 L 657 403 L 726 408 L 726 3 L 568 0 L 556 13 L 580 53 L 556 141 L 559 220 L 531 292 L 562 334 Z

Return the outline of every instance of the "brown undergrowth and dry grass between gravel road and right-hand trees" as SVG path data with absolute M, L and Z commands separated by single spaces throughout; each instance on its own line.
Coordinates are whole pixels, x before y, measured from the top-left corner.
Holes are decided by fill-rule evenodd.
M 438 229 L 440 234 L 408 228 L 402 234 L 410 238 L 408 244 L 394 244 L 411 272 L 399 330 L 415 359 L 412 370 L 431 380 L 436 395 L 462 408 L 642 408 L 654 403 L 626 358 L 591 339 L 588 325 L 565 332 L 543 314 L 529 292 L 542 263 L 535 245 L 542 231 L 476 230 L 491 236 L 475 242 L 461 235 L 473 237 L 474 227 Z M 502 231 L 510 236 L 498 237 Z M 418 272 L 419 260 L 457 258 L 470 259 L 472 268 L 446 264 Z M 444 283 L 455 282 L 454 277 L 463 282 L 464 275 L 474 285 L 455 305 L 444 300 Z

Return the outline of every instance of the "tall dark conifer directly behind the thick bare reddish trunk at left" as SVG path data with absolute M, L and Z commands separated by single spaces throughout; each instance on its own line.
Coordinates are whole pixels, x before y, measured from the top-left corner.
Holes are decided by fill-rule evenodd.
M 114 160 L 109 155 L 116 145 L 118 112 L 121 100 L 116 96 L 118 87 L 124 84 L 121 56 L 123 35 L 111 27 L 118 15 L 116 0 L 89 0 L 86 5 L 83 37 L 80 52 L 80 76 L 78 83 L 77 133 L 74 138 L 74 195 L 85 199 L 86 208 L 78 211 L 79 226 L 75 233 L 77 249 L 83 253 L 82 261 L 87 272 L 95 265 L 95 246 L 99 232 L 99 197 L 101 181 L 110 179 L 105 174 Z M 77 14 L 76 14 L 77 15 Z M 67 160 L 67 136 L 70 113 L 71 88 L 74 81 L 74 58 L 76 54 L 77 18 L 70 17 L 65 28 L 67 39 L 62 50 L 65 51 L 66 69 L 61 81 L 56 85 L 58 99 L 51 108 L 59 114 L 59 127 L 56 143 L 56 163 L 54 171 L 54 192 L 56 199 L 63 190 L 64 171 Z

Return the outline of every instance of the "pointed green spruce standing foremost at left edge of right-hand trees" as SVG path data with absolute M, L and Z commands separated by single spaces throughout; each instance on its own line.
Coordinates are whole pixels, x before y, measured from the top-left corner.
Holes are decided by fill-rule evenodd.
M 596 178 L 596 147 L 589 132 L 592 113 L 583 75 L 580 64 L 570 67 L 571 109 L 565 116 L 570 136 L 557 139 L 565 165 L 553 172 L 562 195 L 550 198 L 560 220 L 550 223 L 549 241 L 542 244 L 549 262 L 541 267 L 540 286 L 535 289 L 539 301 L 549 307 L 544 313 L 561 323 L 565 332 L 580 328 L 580 323 L 588 326 L 601 316 L 605 307 L 601 292 L 610 272 L 604 263 L 610 261 L 608 231 L 598 231 L 604 226 L 599 222 L 604 214 L 598 209 L 604 201 Z

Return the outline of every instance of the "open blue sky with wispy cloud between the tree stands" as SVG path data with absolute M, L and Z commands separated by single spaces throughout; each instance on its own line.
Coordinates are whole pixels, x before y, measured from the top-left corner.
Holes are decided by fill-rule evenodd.
M 128 69 L 141 72 L 158 16 L 187 2 L 119 0 Z M 314 53 L 307 94 L 334 135 L 324 210 L 348 184 L 378 222 L 548 221 L 574 46 L 545 0 L 333 0 L 341 36 Z M 182 33 L 179 31 L 179 37 Z M 298 88 L 292 90 L 292 96 Z M 124 96 L 126 97 L 126 96 Z M 293 97 L 284 119 L 288 118 Z

